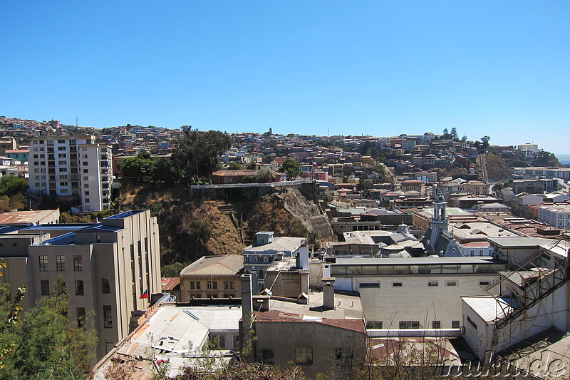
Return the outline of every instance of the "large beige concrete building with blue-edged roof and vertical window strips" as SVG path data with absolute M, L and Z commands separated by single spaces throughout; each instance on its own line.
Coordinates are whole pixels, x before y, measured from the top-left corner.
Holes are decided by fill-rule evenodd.
M 26 309 L 49 296 L 59 277 L 66 282 L 70 323 L 81 326 L 94 314 L 97 359 L 130 333 L 133 312 L 160 292 L 158 225 L 148 210 L 89 225 L 2 227 L 0 257 L 7 264 L 0 281 L 9 282 L 11 294 L 26 287 Z

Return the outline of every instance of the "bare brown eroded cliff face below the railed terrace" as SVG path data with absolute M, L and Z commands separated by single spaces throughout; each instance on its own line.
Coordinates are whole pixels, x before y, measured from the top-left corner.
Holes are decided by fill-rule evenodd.
M 121 210 L 149 208 L 158 220 L 162 264 L 243 252 L 259 231 L 322 240 L 335 236 L 328 217 L 296 188 L 257 200 L 190 200 L 185 186 L 125 182 Z

